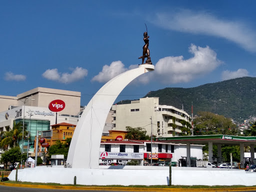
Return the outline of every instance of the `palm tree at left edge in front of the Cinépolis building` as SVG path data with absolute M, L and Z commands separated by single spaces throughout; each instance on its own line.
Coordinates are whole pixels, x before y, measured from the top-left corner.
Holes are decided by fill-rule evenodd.
M 12 129 L 1 132 L 0 147 L 7 150 L 8 147 L 16 146 L 18 143 L 18 139 L 22 138 L 22 129 L 23 128 L 21 121 L 19 121 L 18 123 L 13 121 Z M 24 130 L 23 135 L 26 135 L 26 130 Z

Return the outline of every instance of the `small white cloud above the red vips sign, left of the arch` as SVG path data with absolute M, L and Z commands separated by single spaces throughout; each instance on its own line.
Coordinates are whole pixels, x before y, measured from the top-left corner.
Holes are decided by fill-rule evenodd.
M 48 80 L 54 80 L 62 83 L 70 83 L 82 79 L 88 74 L 88 70 L 82 67 L 76 67 L 71 73 L 58 72 L 57 68 L 47 69 L 42 76 Z

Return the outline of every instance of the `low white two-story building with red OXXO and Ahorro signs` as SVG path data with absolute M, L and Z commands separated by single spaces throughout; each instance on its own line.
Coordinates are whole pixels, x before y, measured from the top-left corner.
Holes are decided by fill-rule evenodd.
M 202 146 L 191 144 L 191 157 L 202 159 Z M 186 158 L 186 144 L 153 141 L 151 147 L 150 140 L 109 140 L 100 143 L 99 164 L 125 165 L 134 159 L 139 165 L 150 165 L 151 149 L 153 164 L 169 165 L 172 163 L 181 166 L 181 161 Z

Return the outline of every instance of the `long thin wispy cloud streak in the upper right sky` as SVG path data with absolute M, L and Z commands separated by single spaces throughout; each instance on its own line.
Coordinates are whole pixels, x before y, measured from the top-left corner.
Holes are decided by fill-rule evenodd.
M 233 41 L 244 49 L 256 51 L 256 35 L 244 22 L 216 18 L 207 12 L 180 10 L 157 13 L 153 22 L 163 28 L 182 32 L 218 36 Z

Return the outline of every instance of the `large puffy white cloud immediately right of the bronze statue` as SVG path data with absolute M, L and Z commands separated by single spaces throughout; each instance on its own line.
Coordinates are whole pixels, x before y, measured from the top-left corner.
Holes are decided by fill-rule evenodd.
M 209 46 L 200 47 L 191 44 L 189 52 L 193 57 L 186 60 L 183 56 L 167 56 L 159 59 L 155 64 L 154 78 L 163 83 L 188 82 L 211 72 L 221 63 L 217 59 L 216 52 Z

